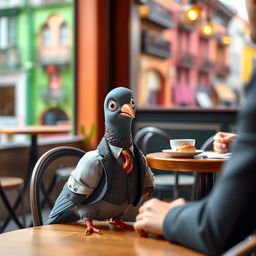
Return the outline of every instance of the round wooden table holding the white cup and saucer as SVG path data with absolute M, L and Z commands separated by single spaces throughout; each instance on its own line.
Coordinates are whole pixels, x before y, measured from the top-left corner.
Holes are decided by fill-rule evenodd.
M 165 152 L 146 155 L 147 165 L 153 169 L 197 173 L 195 198 L 206 196 L 211 190 L 213 173 L 220 172 L 226 159 L 175 158 Z

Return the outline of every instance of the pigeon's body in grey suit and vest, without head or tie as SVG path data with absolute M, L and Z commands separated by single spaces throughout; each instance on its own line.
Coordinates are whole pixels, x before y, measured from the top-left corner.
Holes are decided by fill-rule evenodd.
M 89 172 L 90 167 L 83 164 L 83 158 L 87 161 L 88 157 L 85 155 L 57 198 L 47 224 L 78 221 L 81 218 L 119 218 L 129 205 L 137 205 L 144 189 L 153 187 L 154 181 L 150 169 L 145 168 L 144 156 L 136 145 L 133 144 L 133 147 L 138 161 L 133 172 L 127 175 L 103 138 L 90 162 L 94 166 L 94 173 L 88 179 L 85 169 Z M 92 186 L 96 186 L 95 189 L 90 189 Z M 85 198 L 85 194 L 90 196 Z

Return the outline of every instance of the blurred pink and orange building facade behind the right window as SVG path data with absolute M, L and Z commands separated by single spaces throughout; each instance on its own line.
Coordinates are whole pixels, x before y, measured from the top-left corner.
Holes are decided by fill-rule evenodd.
M 196 21 L 185 17 L 190 1 L 155 0 L 141 7 L 141 29 L 150 39 L 143 41 L 142 34 L 140 107 L 212 107 L 236 101 L 222 101 L 223 88 L 229 89 L 228 24 L 234 12 L 216 0 L 194 2 L 201 11 Z M 160 21 L 154 22 L 154 15 Z M 167 19 L 169 25 L 162 25 Z M 147 44 L 165 54 L 143 51 Z

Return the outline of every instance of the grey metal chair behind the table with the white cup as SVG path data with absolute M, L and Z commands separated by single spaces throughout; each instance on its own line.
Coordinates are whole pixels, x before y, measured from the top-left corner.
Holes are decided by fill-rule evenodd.
M 156 151 L 155 148 L 164 149 L 170 147 L 171 136 L 164 130 L 157 127 L 144 127 L 140 129 L 134 136 L 134 143 L 146 155 Z M 159 149 L 158 149 L 159 150 Z M 161 171 L 164 173 L 164 171 Z M 180 174 L 179 172 L 165 172 L 159 174 L 154 171 L 155 191 L 162 199 L 164 191 L 173 191 L 173 199 L 178 198 L 179 191 L 182 189 L 190 189 L 192 191 L 195 178 L 189 174 Z

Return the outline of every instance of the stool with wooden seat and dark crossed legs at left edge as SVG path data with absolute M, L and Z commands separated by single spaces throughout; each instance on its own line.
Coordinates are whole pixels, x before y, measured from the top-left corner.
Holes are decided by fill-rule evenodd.
M 23 228 L 23 224 L 21 224 L 5 192 L 16 191 L 17 193 L 19 193 L 23 184 L 24 184 L 24 180 L 18 177 L 0 177 L 0 198 L 2 199 L 3 205 L 6 208 L 9 216 L 11 217 L 11 219 L 13 219 L 13 221 L 19 228 Z M 23 206 L 23 203 L 22 203 L 22 206 Z M 24 223 L 25 222 L 24 209 L 22 210 L 23 210 L 23 223 Z M 0 233 L 2 233 L 5 230 L 5 228 L 6 228 L 5 221 L 3 221 L 3 225 L 0 226 Z

